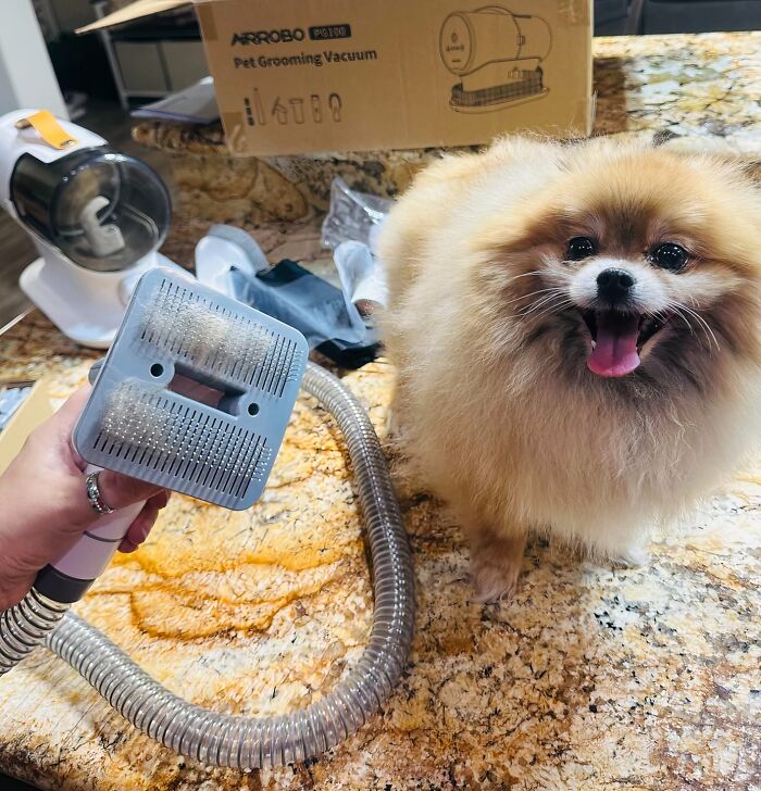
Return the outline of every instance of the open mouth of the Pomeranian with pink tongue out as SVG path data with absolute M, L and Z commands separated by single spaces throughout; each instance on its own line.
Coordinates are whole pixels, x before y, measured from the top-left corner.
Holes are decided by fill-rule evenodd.
M 643 348 L 669 321 L 611 310 L 582 311 L 582 318 L 591 337 L 587 367 L 606 377 L 626 376 L 639 367 Z

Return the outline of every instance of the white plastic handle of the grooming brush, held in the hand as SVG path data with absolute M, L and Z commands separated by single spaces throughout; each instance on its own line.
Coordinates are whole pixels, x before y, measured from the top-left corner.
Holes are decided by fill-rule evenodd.
M 89 465 L 85 474 L 98 472 L 100 467 Z M 67 552 L 37 575 L 35 589 L 48 599 L 65 604 L 82 599 L 105 570 L 129 525 L 145 504 L 142 501 L 111 514 L 103 514 Z

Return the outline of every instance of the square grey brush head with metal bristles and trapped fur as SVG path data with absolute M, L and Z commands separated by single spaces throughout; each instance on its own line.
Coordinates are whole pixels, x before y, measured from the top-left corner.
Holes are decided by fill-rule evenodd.
M 292 327 L 151 271 L 99 369 L 75 448 L 99 467 L 247 508 L 266 484 L 308 355 Z

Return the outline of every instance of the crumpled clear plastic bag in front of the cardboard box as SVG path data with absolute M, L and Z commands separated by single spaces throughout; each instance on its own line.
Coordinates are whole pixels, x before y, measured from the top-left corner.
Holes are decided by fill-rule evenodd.
M 322 243 L 335 250 L 344 241 L 361 241 L 374 249 L 377 226 L 394 201 L 349 189 L 342 178 L 330 185 L 330 210 L 323 222 Z

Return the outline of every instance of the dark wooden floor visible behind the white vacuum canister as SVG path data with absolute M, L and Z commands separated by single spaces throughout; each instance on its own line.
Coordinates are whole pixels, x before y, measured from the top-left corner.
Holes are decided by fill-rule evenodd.
M 129 115 L 116 103 L 91 104 L 76 123 L 103 137 L 117 151 L 144 160 L 165 180 L 170 180 L 167 159 L 133 141 Z M 29 236 L 0 210 L 0 330 L 29 307 L 28 300 L 18 288 L 18 276 L 36 258 L 37 252 Z

